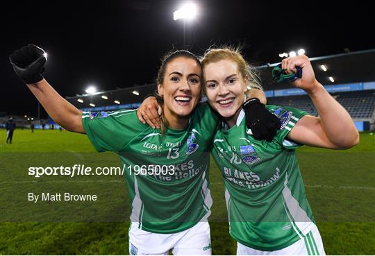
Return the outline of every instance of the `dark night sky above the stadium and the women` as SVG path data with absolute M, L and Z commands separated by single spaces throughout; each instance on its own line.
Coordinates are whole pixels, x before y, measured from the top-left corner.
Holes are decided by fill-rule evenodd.
M 194 53 L 213 43 L 242 43 L 247 60 L 263 65 L 278 62 L 278 53 L 299 48 L 309 57 L 375 48 L 369 1 L 356 1 L 356 6 L 327 6 L 328 1 L 195 2 L 200 14 L 186 33 Z M 44 77 L 62 96 L 83 94 L 90 83 L 99 90 L 153 83 L 163 53 L 182 48 L 183 22 L 172 19 L 181 3 L 50 0 L 4 6 L 3 1 L 0 112 L 37 112 L 36 100 L 8 61 L 12 51 L 28 43 L 49 53 Z

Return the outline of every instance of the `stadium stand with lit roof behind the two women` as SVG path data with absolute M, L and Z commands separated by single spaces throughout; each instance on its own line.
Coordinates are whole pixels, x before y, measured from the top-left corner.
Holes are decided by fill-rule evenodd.
M 353 121 L 362 122 L 360 127 L 365 127 L 362 128 L 363 130 L 375 130 L 375 49 L 310 58 L 310 60 L 317 80 L 323 83 L 328 92 L 348 110 Z M 288 83 L 277 85 L 273 83 L 271 74 L 276 65 L 278 63 L 256 67 L 263 81 L 268 103 L 289 105 L 316 116 L 317 110 L 306 93 L 293 88 Z M 326 65 L 328 71 L 323 71 L 321 65 Z M 334 82 L 328 79 L 329 76 L 335 78 Z M 66 97 L 66 99 L 83 111 L 135 109 L 145 96 L 155 90 L 156 84 L 153 83 Z M 90 103 L 95 107 L 90 106 Z

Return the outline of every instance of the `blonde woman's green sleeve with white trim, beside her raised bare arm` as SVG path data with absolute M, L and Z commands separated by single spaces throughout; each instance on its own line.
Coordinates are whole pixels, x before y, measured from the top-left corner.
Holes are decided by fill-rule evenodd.
M 296 123 L 301 119 L 301 117 L 308 114 L 308 112 L 299 110 L 297 108 L 292 107 L 279 107 L 277 105 L 267 105 L 267 110 L 272 112 L 272 114 L 276 115 L 281 122 L 281 128 L 278 130 L 274 139 L 283 146 L 284 148 L 299 148 L 302 146 L 297 142 L 293 142 L 290 139 L 286 139 L 292 128 L 296 125 Z

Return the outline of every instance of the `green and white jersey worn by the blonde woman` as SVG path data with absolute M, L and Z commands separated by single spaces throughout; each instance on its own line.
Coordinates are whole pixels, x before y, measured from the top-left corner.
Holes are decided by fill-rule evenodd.
M 285 137 L 303 115 L 295 108 L 267 105 L 281 120 L 272 142 L 247 135 L 244 112 L 237 124 L 223 124 L 213 157 L 224 178 L 231 236 L 256 250 L 279 250 L 310 231 L 314 218 L 294 148 Z

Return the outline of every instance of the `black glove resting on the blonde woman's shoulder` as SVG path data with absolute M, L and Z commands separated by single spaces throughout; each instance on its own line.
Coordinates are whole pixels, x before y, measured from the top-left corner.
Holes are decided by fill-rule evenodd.
M 246 116 L 246 126 L 251 129 L 254 138 L 272 142 L 276 131 L 281 127 L 280 120 L 256 98 L 247 100 L 242 108 Z

